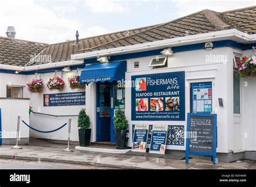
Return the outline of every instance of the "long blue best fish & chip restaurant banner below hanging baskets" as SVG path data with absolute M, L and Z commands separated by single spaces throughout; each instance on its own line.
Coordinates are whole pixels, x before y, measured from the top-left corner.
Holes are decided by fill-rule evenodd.
M 44 94 L 44 107 L 85 105 L 85 92 Z

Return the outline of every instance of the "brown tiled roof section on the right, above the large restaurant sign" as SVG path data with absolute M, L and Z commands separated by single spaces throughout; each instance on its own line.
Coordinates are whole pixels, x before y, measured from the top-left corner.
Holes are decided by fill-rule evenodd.
M 254 34 L 256 33 L 255 23 L 256 6 L 227 12 L 214 12 L 206 9 L 105 45 L 84 49 L 84 52 L 177 38 L 186 36 L 186 33 L 194 35 L 219 30 L 238 29 L 248 34 Z

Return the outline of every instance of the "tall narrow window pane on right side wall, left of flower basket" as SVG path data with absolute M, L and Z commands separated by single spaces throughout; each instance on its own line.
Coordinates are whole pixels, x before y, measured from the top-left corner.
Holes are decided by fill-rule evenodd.
M 233 72 L 234 114 L 240 114 L 240 77 L 238 72 Z

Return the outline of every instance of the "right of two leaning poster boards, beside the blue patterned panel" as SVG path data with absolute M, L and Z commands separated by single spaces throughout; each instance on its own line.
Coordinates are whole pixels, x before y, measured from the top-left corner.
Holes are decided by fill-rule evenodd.
M 149 153 L 165 154 L 167 125 L 153 124 Z

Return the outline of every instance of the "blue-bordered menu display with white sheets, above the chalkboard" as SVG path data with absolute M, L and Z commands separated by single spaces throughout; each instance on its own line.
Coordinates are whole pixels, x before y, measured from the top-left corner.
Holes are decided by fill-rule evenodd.
M 212 82 L 191 84 L 191 113 L 212 113 Z

